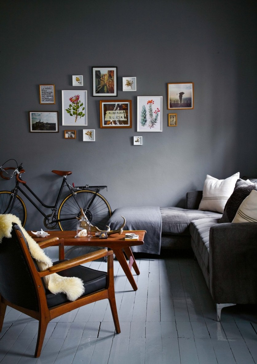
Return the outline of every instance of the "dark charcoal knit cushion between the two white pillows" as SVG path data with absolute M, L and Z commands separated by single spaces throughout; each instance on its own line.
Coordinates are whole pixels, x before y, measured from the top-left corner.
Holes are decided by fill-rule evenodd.
M 252 190 L 257 191 L 257 184 L 243 179 L 238 179 L 232 195 L 226 202 L 223 215 L 219 223 L 232 222 L 235 217 L 238 207 L 244 201 L 244 199 L 251 193 Z

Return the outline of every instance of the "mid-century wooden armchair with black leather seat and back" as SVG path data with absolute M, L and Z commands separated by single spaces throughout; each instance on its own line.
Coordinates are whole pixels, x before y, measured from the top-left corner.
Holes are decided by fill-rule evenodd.
M 101 249 L 77 258 L 63 260 L 63 240 L 51 238 L 40 242 L 39 245 L 41 248 L 59 245 L 59 259 L 61 259 L 41 272 L 31 257 L 27 241 L 17 224 L 13 223 L 12 237 L 3 238 L 0 244 L 0 331 L 7 305 L 39 320 L 35 351 L 35 357 L 39 357 L 50 320 L 91 302 L 108 298 L 116 333 L 120 333 L 114 292 L 112 250 Z M 108 257 L 107 272 L 80 265 L 102 257 Z M 64 293 L 52 294 L 45 288 L 42 279 L 52 273 L 81 278 L 85 288 L 83 296 L 71 302 Z

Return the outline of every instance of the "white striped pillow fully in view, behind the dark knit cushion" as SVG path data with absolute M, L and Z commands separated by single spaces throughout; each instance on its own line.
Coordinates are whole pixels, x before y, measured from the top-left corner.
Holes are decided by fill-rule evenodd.
M 222 214 L 239 175 L 240 173 L 237 172 L 226 179 L 217 179 L 207 174 L 199 210 L 217 211 Z

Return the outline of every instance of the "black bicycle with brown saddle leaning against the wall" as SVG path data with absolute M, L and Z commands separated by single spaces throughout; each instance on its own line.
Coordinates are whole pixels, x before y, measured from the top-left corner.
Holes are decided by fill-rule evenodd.
M 3 166 L 14 161 L 16 167 Z M 71 175 L 71 171 L 53 170 L 53 173 L 63 177 L 59 193 L 56 197 L 55 205 L 46 205 L 41 199 L 29 188 L 26 181 L 21 176 L 25 173 L 22 163 L 18 166 L 15 159 L 9 159 L 0 167 L 0 176 L 4 179 L 16 178 L 15 187 L 11 191 L 0 191 L 0 214 L 13 214 L 19 217 L 22 226 L 25 225 L 27 219 L 27 209 L 24 201 L 17 194 L 20 191 L 29 202 L 44 216 L 44 226 L 47 229 L 56 229 L 58 226 L 61 230 L 75 230 L 77 226 L 77 218 L 81 215 L 81 208 L 92 225 L 104 230 L 108 219 L 111 217 L 112 210 L 107 199 L 100 193 L 100 189 L 107 186 L 74 186 L 69 185 L 66 181 L 67 176 Z M 69 194 L 59 205 L 59 200 L 64 186 L 69 189 Z M 32 198 L 24 191 L 25 189 L 36 198 L 36 200 L 47 209 L 51 209 L 50 214 L 45 214 Z M 93 189 L 93 190 L 90 190 Z M 59 205 L 59 208 L 57 206 Z

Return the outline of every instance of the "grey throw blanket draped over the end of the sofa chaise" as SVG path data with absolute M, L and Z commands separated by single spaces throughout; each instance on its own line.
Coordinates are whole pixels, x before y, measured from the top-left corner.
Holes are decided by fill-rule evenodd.
M 161 249 L 161 212 L 160 207 L 119 207 L 109 218 L 107 225 L 111 230 L 118 229 L 123 223 L 124 216 L 126 225 L 124 230 L 146 230 L 144 244 L 132 246 L 132 252 L 160 254 Z M 131 242 L 133 245 L 133 241 Z

